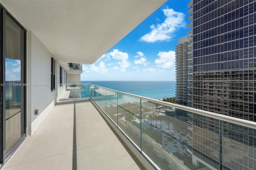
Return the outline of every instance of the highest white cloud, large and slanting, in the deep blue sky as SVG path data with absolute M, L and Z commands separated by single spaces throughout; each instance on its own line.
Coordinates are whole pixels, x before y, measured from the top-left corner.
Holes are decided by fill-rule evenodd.
M 185 14 L 182 12 L 175 12 L 173 9 L 163 10 L 166 19 L 161 24 L 156 26 L 153 24 L 150 26 L 151 32 L 145 34 L 140 38 L 141 41 L 145 42 L 156 42 L 170 40 L 174 37 L 174 32 L 180 27 L 186 26 L 184 22 Z

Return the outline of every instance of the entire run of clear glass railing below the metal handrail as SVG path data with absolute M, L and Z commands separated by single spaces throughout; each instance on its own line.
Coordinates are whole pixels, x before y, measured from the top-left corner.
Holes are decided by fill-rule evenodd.
M 94 93 L 100 91 L 97 88 Z M 199 110 L 184 107 L 188 110 L 184 111 L 175 108 L 180 107 L 178 105 L 110 89 L 101 93 L 102 96 L 91 95 L 96 103 L 100 97 L 106 97 L 106 106 L 98 105 L 160 169 L 256 167 L 256 130 L 253 126 L 242 127 L 204 116 L 214 113 L 201 111 L 199 115 L 196 114 Z

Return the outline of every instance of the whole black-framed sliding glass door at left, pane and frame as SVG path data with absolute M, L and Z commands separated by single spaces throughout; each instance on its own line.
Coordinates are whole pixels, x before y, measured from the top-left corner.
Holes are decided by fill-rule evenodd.
M 26 30 L 1 9 L 1 147 L 2 162 L 26 135 Z M 1 162 L 1 163 L 2 163 Z

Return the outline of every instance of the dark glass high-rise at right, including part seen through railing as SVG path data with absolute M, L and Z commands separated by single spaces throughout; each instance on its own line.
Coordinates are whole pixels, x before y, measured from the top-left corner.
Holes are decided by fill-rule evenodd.
M 256 122 L 256 1 L 192 3 L 193 107 Z M 194 159 L 216 169 L 256 169 L 255 130 L 203 116 L 193 125 Z

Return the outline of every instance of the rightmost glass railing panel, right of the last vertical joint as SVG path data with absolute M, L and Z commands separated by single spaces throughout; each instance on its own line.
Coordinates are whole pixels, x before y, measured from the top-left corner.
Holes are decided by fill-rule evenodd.
M 222 169 L 256 169 L 256 129 L 222 121 Z

